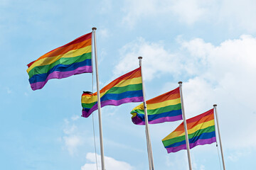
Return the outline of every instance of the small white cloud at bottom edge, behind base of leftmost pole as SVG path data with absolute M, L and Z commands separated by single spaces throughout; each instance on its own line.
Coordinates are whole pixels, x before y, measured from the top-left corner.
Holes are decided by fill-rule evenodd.
M 87 169 L 91 169 L 91 170 L 96 170 L 96 159 L 95 159 L 95 154 L 94 153 L 87 153 L 86 154 L 86 159 L 89 162 L 92 163 L 87 163 L 84 166 L 81 167 L 81 170 L 87 170 Z M 100 159 L 100 155 L 97 154 L 97 163 L 98 163 L 98 169 L 101 169 L 101 159 Z M 112 158 L 112 157 L 106 157 L 105 156 L 105 169 L 112 169 L 112 170 L 132 170 L 134 169 L 130 164 L 128 164 L 127 162 L 120 162 L 117 161 L 116 159 Z

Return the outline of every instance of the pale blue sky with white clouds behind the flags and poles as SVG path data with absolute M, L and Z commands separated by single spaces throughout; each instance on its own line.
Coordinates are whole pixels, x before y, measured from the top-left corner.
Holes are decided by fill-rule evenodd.
M 255 0 L 0 0 L 1 169 L 96 169 L 92 115 L 82 91 L 92 74 L 28 83 L 26 64 L 97 27 L 100 88 L 139 67 L 146 99 L 183 81 L 186 118 L 218 104 L 226 169 L 255 169 Z M 94 91 L 96 91 L 94 87 Z M 102 108 L 106 170 L 148 169 L 139 103 Z M 97 161 L 100 140 L 94 113 Z M 149 125 L 155 169 L 188 169 L 186 150 L 167 154 L 161 140 L 181 121 Z M 220 169 L 215 144 L 191 149 L 195 170 Z

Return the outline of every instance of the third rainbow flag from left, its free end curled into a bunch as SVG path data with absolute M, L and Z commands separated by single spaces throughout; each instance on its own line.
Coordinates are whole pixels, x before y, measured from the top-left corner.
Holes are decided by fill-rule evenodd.
M 179 87 L 146 101 L 146 110 L 150 124 L 182 120 Z M 144 103 L 132 109 L 131 114 L 134 124 L 145 125 Z

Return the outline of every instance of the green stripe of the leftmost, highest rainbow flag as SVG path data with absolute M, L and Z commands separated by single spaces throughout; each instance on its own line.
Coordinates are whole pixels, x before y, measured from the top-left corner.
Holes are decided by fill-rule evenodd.
M 33 77 L 33 75 L 47 73 L 51 68 L 55 67 L 58 64 L 69 65 L 69 64 L 73 64 L 75 62 L 82 62 L 84 60 L 91 59 L 91 57 L 92 57 L 91 52 L 88 52 L 88 53 L 85 53 L 85 54 L 82 54 L 82 55 L 79 55 L 76 57 L 69 57 L 69 58 L 63 57 L 63 58 L 60 58 L 59 60 L 53 62 L 52 64 L 33 67 L 33 69 L 31 69 L 31 71 L 28 72 L 29 79 L 31 77 Z

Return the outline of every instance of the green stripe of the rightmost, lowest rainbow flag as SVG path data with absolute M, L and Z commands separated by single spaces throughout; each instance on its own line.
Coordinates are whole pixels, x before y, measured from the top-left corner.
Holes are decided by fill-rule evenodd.
M 201 135 L 205 132 L 213 132 L 213 131 L 215 131 L 215 126 L 214 125 L 209 126 L 208 128 L 197 130 L 196 132 L 193 132 L 192 134 L 188 134 L 188 139 L 199 136 L 199 135 Z M 173 145 L 176 142 L 181 142 L 183 140 L 185 140 L 185 135 L 180 136 L 180 137 L 174 137 L 170 140 L 164 140 L 163 143 L 164 143 L 164 146 L 169 146 L 169 145 Z

